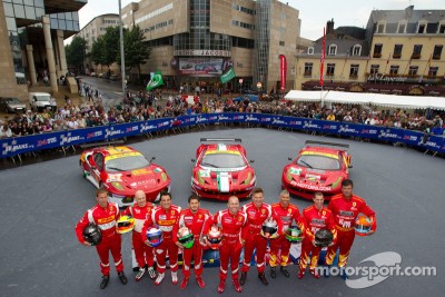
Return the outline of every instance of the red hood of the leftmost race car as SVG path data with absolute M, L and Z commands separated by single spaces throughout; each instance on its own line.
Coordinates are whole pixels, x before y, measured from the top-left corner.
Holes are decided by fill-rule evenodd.
M 162 168 L 151 165 L 136 170 L 108 174 L 106 182 L 117 190 L 134 191 L 165 186 L 170 182 L 170 179 Z

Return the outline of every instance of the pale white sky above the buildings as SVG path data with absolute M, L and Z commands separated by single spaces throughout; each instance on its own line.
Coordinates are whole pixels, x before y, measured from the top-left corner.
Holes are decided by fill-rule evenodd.
M 138 1 L 121 0 L 122 7 L 130 2 Z M 330 19 L 334 19 L 334 28 L 340 26 L 364 28 L 374 9 L 403 10 L 408 6 L 414 6 L 415 10 L 445 10 L 444 0 L 284 0 L 280 2 L 299 10 L 300 37 L 310 40 L 323 36 L 323 28 Z M 118 3 L 118 0 L 88 0 L 88 4 L 79 11 L 80 28 L 97 16 L 119 13 Z

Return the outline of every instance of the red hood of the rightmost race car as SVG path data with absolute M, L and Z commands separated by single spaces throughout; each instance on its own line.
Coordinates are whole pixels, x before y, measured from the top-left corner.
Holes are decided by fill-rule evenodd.
M 286 174 L 288 181 L 295 180 L 324 187 L 332 186 L 332 188 L 336 188 L 342 182 L 342 176 L 340 170 L 319 170 L 298 166 L 287 167 Z

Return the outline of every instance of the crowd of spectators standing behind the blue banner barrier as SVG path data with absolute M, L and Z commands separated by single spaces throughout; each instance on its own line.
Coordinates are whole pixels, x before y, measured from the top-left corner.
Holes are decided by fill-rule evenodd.
M 95 92 L 88 97 L 96 97 Z M 99 93 L 99 92 L 98 92 Z M 66 98 L 66 105 L 56 112 L 48 110 L 42 113 L 28 110 L 0 120 L 0 138 L 29 136 L 34 133 L 81 129 L 95 126 L 106 126 L 122 122 L 142 121 L 180 115 L 214 113 L 214 112 L 260 112 L 281 116 L 313 118 L 319 120 L 343 121 L 373 126 L 395 127 L 419 130 L 433 135 L 444 135 L 444 113 L 436 113 L 427 119 L 424 113 L 400 109 L 377 110 L 376 107 L 357 107 L 334 105 L 320 107 L 319 103 L 273 101 L 250 102 L 246 97 L 236 101 L 231 98 L 210 98 L 195 96 L 189 101 L 187 96 L 168 96 L 161 100 L 161 93 L 128 92 L 122 105 L 103 108 L 102 101 L 88 100 L 82 106 L 73 105 Z M 159 103 L 162 102 L 162 103 Z M 421 113 L 422 112 L 422 113 Z

